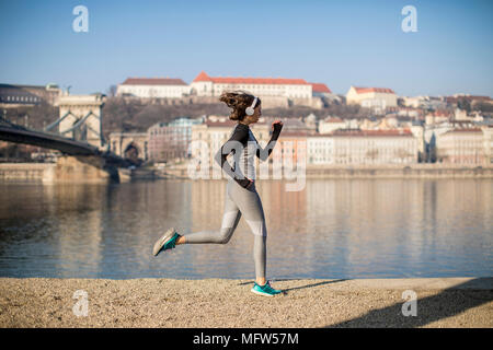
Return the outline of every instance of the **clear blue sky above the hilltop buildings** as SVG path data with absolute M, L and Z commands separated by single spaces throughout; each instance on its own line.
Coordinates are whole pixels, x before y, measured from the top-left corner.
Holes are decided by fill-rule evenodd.
M 76 33 L 72 10 L 89 10 Z M 404 5 L 417 32 L 401 30 Z M 127 77 L 283 77 L 493 96 L 493 1 L 0 0 L 0 82 L 106 92 Z

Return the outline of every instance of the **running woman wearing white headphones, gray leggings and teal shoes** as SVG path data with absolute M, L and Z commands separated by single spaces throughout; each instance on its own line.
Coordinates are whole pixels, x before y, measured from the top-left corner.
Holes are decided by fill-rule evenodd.
M 256 278 L 251 291 L 260 295 L 274 296 L 282 291 L 272 288 L 265 278 L 267 229 L 262 201 L 255 189 L 254 158 L 257 156 L 261 161 L 268 159 L 279 138 L 283 122 L 276 120 L 272 124 L 271 140 L 265 149 L 262 149 L 250 130 L 250 125 L 257 122 L 262 115 L 261 100 L 237 91 L 222 93 L 219 101 L 232 108 L 229 118 L 238 121 L 229 140 L 215 156 L 216 162 L 228 175 L 221 228 L 218 231 L 202 231 L 186 235 L 180 235 L 171 228 L 156 242 L 152 254 L 157 256 L 180 244 L 227 244 L 243 214 L 254 235 L 253 259 Z M 231 153 L 234 160 L 233 167 L 227 161 Z

